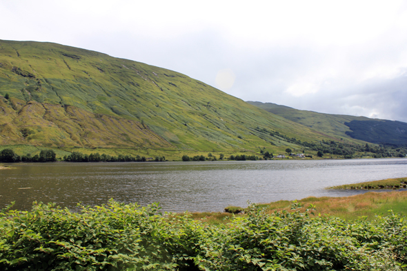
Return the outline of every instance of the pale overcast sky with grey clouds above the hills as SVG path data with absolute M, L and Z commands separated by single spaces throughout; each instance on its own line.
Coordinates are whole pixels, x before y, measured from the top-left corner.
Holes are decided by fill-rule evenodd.
M 407 122 L 407 1 L 0 0 L 0 39 L 175 70 L 245 101 Z

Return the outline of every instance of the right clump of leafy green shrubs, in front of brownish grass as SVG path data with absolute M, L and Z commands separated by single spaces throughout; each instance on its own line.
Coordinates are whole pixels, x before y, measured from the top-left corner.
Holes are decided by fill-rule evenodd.
M 219 241 L 203 243 L 195 263 L 201 270 L 401 270 L 399 252 L 389 245 L 401 238 L 380 223 L 311 219 L 299 207 L 269 215 L 251 205 L 247 217 L 206 233 L 209 242 Z M 401 250 L 406 242 L 397 244 Z

